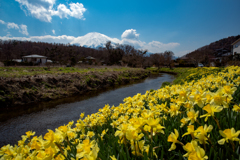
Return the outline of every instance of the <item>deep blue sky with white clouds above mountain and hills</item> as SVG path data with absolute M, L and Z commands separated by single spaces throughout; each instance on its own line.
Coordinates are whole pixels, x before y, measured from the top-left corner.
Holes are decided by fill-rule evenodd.
M 239 0 L 1 0 L 0 39 L 71 43 L 98 32 L 181 56 L 239 35 L 239 7 Z

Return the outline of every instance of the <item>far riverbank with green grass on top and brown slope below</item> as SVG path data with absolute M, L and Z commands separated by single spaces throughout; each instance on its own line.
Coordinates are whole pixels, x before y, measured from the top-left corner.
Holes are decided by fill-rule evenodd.
M 127 67 L 0 67 L 0 106 L 11 107 L 84 94 L 144 79 L 150 72 Z

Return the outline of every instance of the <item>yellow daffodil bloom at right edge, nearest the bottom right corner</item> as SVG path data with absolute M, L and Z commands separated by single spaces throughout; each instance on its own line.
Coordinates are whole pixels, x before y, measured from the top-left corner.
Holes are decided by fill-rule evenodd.
M 228 140 L 239 141 L 239 138 L 237 137 L 240 134 L 240 130 L 236 132 L 234 128 L 231 128 L 225 129 L 224 131 L 219 131 L 219 133 L 224 137 L 223 139 L 218 141 L 220 145 L 223 145 L 225 142 L 228 143 Z

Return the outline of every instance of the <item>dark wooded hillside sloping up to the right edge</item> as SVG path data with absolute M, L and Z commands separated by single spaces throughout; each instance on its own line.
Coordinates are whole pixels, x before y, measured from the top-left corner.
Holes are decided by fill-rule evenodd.
M 218 49 L 225 49 L 225 50 L 231 51 L 231 44 L 239 38 L 240 38 L 240 35 L 220 39 L 218 41 L 210 43 L 209 45 L 198 48 L 197 50 L 188 53 L 186 56 L 195 57 L 196 55 L 199 55 L 199 53 L 202 53 L 202 54 L 208 53 L 210 55 L 214 55 L 216 53 L 216 50 Z

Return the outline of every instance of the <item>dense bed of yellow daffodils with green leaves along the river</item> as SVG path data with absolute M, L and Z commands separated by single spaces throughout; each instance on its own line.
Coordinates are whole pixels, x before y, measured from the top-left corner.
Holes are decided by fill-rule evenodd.
M 240 159 L 240 67 L 196 68 L 181 84 L 81 113 L 44 136 L 28 131 L 0 159 Z

